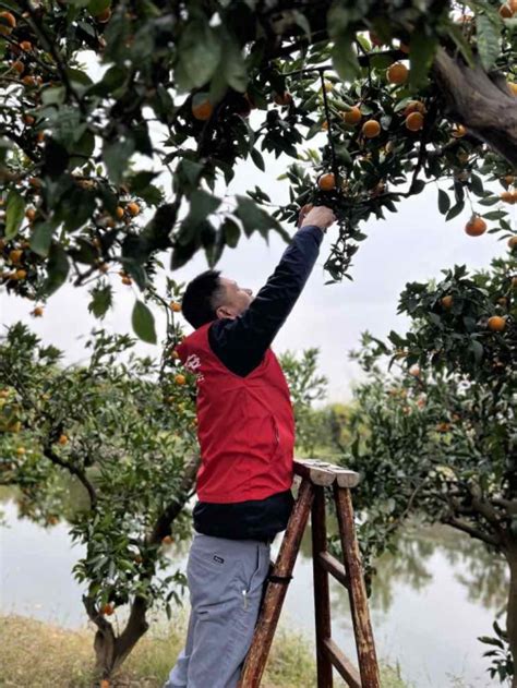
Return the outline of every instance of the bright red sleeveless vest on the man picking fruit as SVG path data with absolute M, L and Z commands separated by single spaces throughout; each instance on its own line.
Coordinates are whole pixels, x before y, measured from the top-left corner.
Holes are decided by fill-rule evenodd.
M 292 484 L 294 417 L 276 355 L 241 377 L 212 351 L 211 323 L 178 346 L 181 362 L 197 376 L 201 502 L 265 499 Z

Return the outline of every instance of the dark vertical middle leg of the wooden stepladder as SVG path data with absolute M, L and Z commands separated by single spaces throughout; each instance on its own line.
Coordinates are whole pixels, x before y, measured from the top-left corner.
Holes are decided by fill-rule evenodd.
M 328 574 L 321 565 L 321 552 L 327 548 L 325 517 L 325 488 L 314 487 L 312 505 L 312 564 L 314 571 L 314 613 L 316 619 L 317 688 L 333 688 L 332 662 L 325 651 L 325 640 L 330 638 L 330 599 Z

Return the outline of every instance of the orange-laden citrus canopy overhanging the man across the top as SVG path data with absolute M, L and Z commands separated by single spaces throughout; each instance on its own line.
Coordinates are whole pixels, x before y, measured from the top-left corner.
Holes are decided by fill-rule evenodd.
M 446 219 L 468 205 L 469 234 L 490 224 L 515 243 L 516 10 L 2 0 L 3 286 L 40 309 L 67 281 L 93 282 L 109 303 L 119 274 L 143 293 L 133 319 L 149 322 L 160 254 L 176 269 L 204 250 L 214 265 L 242 233 L 287 239 L 280 222 L 308 203 L 339 218 L 337 280 L 360 224 L 434 182 Z M 273 213 L 257 186 L 226 193 L 242 160 L 265 169 L 263 153 L 285 158 L 291 185 Z

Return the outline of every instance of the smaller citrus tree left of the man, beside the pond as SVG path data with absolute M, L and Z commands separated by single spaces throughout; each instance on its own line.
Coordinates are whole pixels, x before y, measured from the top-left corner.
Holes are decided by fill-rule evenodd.
M 22 323 L 0 340 L 0 483 L 17 487 L 21 516 L 50 528 L 64 515 L 85 546 L 73 574 L 105 679 L 147 630 L 151 607 L 170 616 L 179 601 L 185 580 L 165 571 L 167 552 L 190 536 L 183 507 L 199 466 L 192 376 L 167 348 L 154 360 L 134 343 L 97 329 L 87 364 L 65 366 Z M 63 514 L 64 479 L 77 503 Z

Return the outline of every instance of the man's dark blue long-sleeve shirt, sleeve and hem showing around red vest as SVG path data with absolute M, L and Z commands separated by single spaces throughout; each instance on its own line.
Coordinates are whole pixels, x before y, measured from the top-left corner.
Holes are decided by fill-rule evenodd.
M 305 286 L 322 240 L 318 227 L 299 229 L 250 306 L 235 319 L 218 319 L 211 325 L 212 350 L 232 373 L 247 376 L 260 365 Z M 206 535 L 231 540 L 273 540 L 285 530 L 292 505 L 290 490 L 266 499 L 233 504 L 197 502 L 194 528 Z

